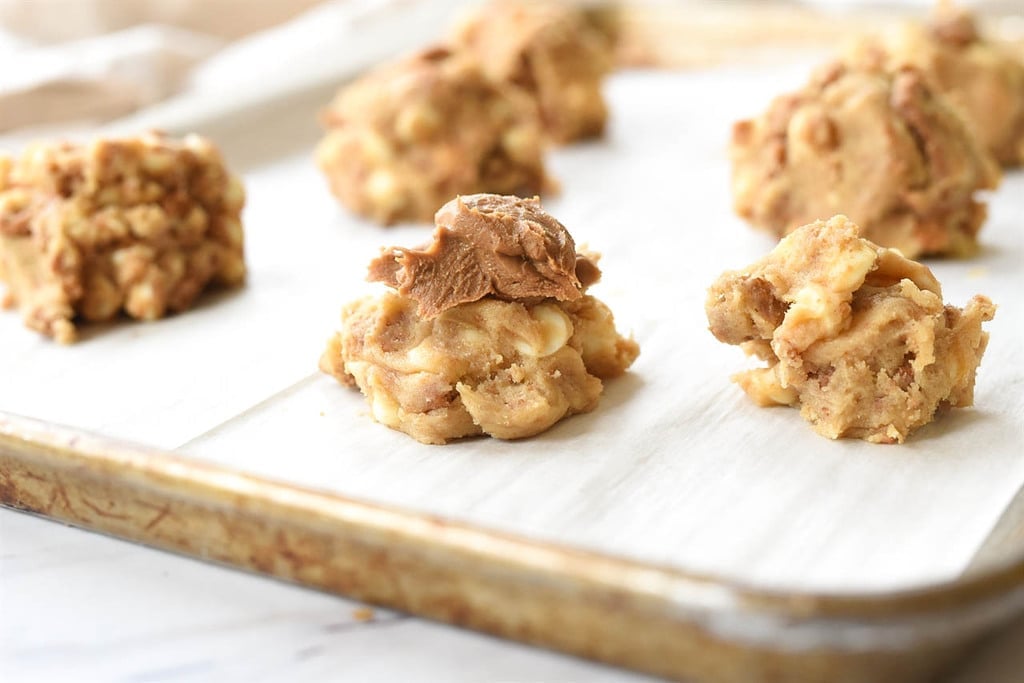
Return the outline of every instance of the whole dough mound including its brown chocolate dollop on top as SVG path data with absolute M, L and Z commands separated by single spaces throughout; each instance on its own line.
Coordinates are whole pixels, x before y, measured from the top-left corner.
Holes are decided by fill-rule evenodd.
M 599 274 L 536 199 L 453 200 L 433 244 L 374 262 L 396 292 L 344 307 L 321 369 L 424 443 L 537 434 L 593 410 L 639 353 L 586 293 Z

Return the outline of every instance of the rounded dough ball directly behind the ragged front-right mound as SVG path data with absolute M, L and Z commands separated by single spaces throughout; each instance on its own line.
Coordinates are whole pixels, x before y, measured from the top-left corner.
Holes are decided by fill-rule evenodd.
M 985 219 L 978 190 L 998 167 L 912 69 L 833 63 L 802 90 L 733 127 L 736 212 L 779 237 L 849 215 L 907 257 L 969 255 Z

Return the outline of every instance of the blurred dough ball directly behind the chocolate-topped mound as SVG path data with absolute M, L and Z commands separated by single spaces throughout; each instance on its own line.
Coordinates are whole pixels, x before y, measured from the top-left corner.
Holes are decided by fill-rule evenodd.
M 529 98 L 433 48 L 344 88 L 323 115 L 316 159 L 332 191 L 380 223 L 429 221 L 459 194 L 548 186 Z

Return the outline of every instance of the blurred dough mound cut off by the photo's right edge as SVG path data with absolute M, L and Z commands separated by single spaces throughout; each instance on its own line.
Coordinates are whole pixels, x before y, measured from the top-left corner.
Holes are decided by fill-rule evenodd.
M 964 9 L 942 5 L 931 24 L 907 24 L 856 43 L 854 63 L 920 69 L 1005 166 L 1024 162 L 1024 63 L 980 35 Z

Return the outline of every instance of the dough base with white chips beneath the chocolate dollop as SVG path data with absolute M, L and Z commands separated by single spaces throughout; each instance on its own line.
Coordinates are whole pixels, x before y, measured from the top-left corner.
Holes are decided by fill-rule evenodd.
M 389 292 L 345 306 L 321 369 L 357 386 L 378 422 L 444 443 L 531 436 L 589 412 L 601 379 L 638 353 L 591 296 L 531 305 L 487 298 L 425 319 L 414 300 Z

